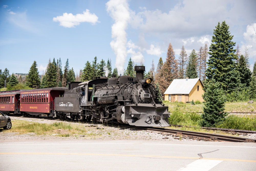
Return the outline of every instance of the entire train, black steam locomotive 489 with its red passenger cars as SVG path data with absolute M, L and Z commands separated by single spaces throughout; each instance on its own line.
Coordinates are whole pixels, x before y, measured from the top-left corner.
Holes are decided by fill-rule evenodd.
M 118 122 L 135 126 L 169 126 L 168 106 L 158 100 L 158 91 L 152 79 L 143 78 L 145 66 L 135 66 L 135 71 L 136 77 L 98 77 L 85 82 L 71 82 L 68 88 L 0 92 L 0 97 L 1 94 L 4 97 L 8 94 L 14 96 L 11 98 L 12 102 L 15 100 L 13 113 L 47 114 L 59 119 Z M 0 98 L 0 111 L 4 108 L 1 105 Z

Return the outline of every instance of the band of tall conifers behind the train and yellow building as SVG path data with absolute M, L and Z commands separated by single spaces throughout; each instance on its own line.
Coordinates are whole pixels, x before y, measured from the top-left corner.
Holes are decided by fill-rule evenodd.
M 256 99 L 256 62 L 253 71 L 249 69 L 249 52 L 241 54 L 239 45 L 232 41 L 233 36 L 229 32 L 226 22 L 218 23 L 214 29 L 212 43 L 208 48 L 193 49 L 187 54 L 184 46 L 181 47 L 178 59 L 170 43 L 167 49 L 166 59 L 160 57 L 155 68 L 152 60 L 151 68 L 144 72 L 145 78 L 152 78 L 161 89 L 162 93 L 168 88 L 173 79 L 200 78 L 204 84 L 217 82 L 223 90 L 227 101 L 244 101 Z M 208 57 L 209 55 L 209 57 Z M 141 63 L 140 65 L 143 65 Z M 134 62 L 129 59 L 124 75 L 135 76 Z M 10 89 L 37 89 L 50 87 L 66 87 L 68 82 L 87 81 L 99 76 L 118 76 L 117 68 L 112 70 L 111 59 L 104 61 L 95 56 L 93 61 L 87 61 L 83 70 L 74 73 L 69 67 L 69 60 L 62 68 L 61 59 L 49 60 L 44 74 L 39 75 L 36 61 L 31 65 L 28 74 L 23 78 L 10 75 L 9 70 L 0 69 L 1 90 Z M 206 86 L 207 87 L 207 86 Z

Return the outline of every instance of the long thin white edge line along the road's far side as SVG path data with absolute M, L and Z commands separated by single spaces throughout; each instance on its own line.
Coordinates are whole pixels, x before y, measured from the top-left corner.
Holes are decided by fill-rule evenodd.
M 206 147 L 239 147 L 239 148 L 256 148 L 247 146 L 225 146 L 225 145 L 188 145 L 188 144 L 150 144 L 150 143 L 28 143 L 28 144 L 4 144 L 2 145 L 61 145 L 61 144 L 138 144 L 138 145 L 178 145 L 178 146 L 206 146 Z

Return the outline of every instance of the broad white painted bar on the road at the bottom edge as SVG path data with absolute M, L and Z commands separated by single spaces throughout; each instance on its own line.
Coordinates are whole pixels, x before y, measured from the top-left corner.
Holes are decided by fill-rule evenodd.
M 180 168 L 178 171 L 207 171 L 218 165 L 222 160 L 207 160 L 207 159 L 198 159 L 187 166 Z

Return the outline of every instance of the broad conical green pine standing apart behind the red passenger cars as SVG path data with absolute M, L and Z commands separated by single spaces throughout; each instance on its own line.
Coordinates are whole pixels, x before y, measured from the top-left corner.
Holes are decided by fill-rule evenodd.
M 26 85 L 30 88 L 38 89 L 40 88 L 40 77 L 39 71 L 37 69 L 37 63 L 34 61 L 29 69 L 28 75 L 26 76 Z

